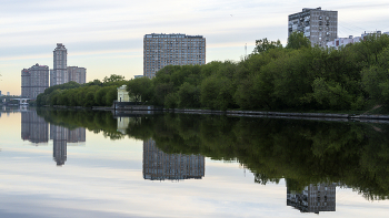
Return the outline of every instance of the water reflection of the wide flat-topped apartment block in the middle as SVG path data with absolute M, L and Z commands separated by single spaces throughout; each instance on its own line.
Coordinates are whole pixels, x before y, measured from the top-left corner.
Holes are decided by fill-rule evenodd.
M 202 155 L 166 154 L 156 142 L 143 142 L 143 178 L 150 180 L 201 179 L 205 176 Z

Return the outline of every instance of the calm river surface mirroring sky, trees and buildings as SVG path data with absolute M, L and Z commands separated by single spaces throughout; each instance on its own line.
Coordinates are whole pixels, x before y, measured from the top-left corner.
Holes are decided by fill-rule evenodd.
M 389 125 L 19 110 L 0 217 L 388 217 Z

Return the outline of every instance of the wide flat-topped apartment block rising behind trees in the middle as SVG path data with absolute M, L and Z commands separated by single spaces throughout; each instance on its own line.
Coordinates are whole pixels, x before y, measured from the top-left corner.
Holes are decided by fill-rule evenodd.
M 143 76 L 153 77 L 167 65 L 206 64 L 206 38 L 186 34 L 146 34 Z

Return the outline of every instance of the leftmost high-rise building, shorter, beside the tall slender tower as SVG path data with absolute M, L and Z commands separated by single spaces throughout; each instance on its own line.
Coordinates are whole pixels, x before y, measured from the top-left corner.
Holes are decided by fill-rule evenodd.
M 38 63 L 21 71 L 21 96 L 37 98 L 49 87 L 49 66 Z

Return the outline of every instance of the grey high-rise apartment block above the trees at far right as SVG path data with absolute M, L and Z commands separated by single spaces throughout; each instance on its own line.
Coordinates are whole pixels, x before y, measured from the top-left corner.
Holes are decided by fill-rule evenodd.
M 305 8 L 302 12 L 290 14 L 288 37 L 296 31 L 302 32 L 311 45 L 326 46 L 327 42 L 338 38 L 338 11 Z

